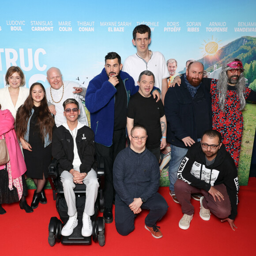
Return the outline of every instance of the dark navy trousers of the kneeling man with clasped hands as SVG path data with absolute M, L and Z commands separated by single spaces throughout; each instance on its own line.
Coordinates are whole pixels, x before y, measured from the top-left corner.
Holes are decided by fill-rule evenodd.
M 141 209 L 150 210 L 145 218 L 146 226 L 152 227 L 156 222 L 162 219 L 166 214 L 168 205 L 166 200 L 159 194 L 155 193 L 145 203 L 142 204 Z M 117 232 L 122 236 L 127 236 L 134 230 L 134 219 L 136 214 L 126 205 L 118 195 L 116 195 L 115 203 L 115 222 Z

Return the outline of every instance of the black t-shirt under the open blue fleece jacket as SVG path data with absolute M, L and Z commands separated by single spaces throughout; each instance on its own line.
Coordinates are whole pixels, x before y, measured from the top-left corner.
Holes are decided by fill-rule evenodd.
M 114 131 L 126 128 L 126 112 L 127 112 L 127 93 L 123 80 L 120 75 L 117 76 L 119 83 L 115 86 L 117 92 L 115 94 L 115 119 Z

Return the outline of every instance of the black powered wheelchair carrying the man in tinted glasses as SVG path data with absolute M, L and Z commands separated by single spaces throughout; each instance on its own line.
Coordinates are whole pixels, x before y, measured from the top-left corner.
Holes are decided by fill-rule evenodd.
M 98 217 L 98 211 L 104 211 L 104 160 L 99 159 L 98 168 L 96 170 L 99 188 L 97 200 L 94 204 L 94 215 L 91 216 L 92 222 L 92 235 L 90 237 L 83 237 L 81 230 L 83 226 L 83 211 L 86 200 L 86 185 L 85 184 L 75 184 L 75 203 L 77 207 L 77 218 L 78 225 L 75 227 L 73 233 L 68 236 L 62 236 L 62 227 L 68 222 L 68 206 L 64 198 L 64 191 L 62 182 L 60 181 L 60 176 L 57 171 L 57 161 L 53 159 L 53 162 L 49 166 L 48 179 L 49 183 L 53 189 L 53 200 L 56 200 L 56 209 L 60 215 L 60 219 L 57 217 L 52 217 L 49 222 L 48 230 L 48 243 L 50 246 L 54 246 L 56 242 L 60 242 L 63 245 L 90 245 L 91 238 L 94 242 L 99 243 L 100 246 L 105 245 L 105 220 L 103 217 Z

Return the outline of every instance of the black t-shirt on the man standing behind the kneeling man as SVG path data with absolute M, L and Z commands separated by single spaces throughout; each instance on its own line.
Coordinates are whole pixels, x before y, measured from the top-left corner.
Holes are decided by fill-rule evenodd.
M 134 94 L 129 101 L 127 117 L 134 119 L 134 125 L 141 124 L 147 129 L 148 149 L 160 146 L 162 130 L 160 118 L 165 115 L 162 101 L 156 102 L 153 96 L 146 98 L 139 92 Z

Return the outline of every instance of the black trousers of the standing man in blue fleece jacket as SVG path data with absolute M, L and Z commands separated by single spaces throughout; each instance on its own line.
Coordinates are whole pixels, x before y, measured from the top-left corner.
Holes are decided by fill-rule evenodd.
M 106 147 L 102 144 L 95 143 L 97 157 L 104 158 L 105 168 L 105 188 L 104 188 L 104 200 L 105 207 L 112 207 L 113 203 L 113 164 L 117 157 L 117 154 L 125 148 L 126 133 L 125 129 L 113 132 L 112 146 Z

